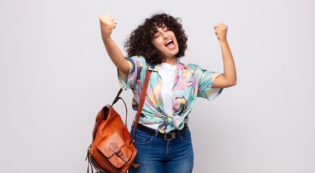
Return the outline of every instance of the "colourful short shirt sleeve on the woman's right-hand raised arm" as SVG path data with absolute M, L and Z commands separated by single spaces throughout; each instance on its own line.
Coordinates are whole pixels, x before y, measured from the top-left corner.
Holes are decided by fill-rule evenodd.
M 212 88 L 214 80 L 222 73 L 216 73 L 202 69 L 200 66 L 197 67 L 200 77 L 197 97 L 203 97 L 208 100 L 216 99 L 222 92 L 223 88 Z

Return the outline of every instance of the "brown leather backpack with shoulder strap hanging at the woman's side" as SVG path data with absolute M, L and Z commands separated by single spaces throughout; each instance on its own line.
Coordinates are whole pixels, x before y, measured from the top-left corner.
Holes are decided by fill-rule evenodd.
M 119 97 L 122 89 L 119 90 L 112 105 L 104 106 L 97 114 L 93 130 L 93 140 L 88 149 L 86 158 L 89 160 L 89 165 L 91 165 L 92 172 L 94 167 L 98 172 L 124 173 L 127 172 L 131 165 L 135 167 L 139 166 L 137 163 L 132 163 L 137 153 L 137 149 L 134 146 L 135 131 L 137 129 L 137 123 L 139 121 L 143 107 L 150 73 L 151 71 L 146 71 L 146 77 L 140 97 L 136 120 L 134 123 L 134 133 L 132 140 L 130 132 L 126 126 L 127 115 L 126 122 L 124 123 L 120 115 L 113 108 L 113 105 L 119 99 L 123 101 L 123 99 Z M 124 104 L 126 106 L 125 102 Z

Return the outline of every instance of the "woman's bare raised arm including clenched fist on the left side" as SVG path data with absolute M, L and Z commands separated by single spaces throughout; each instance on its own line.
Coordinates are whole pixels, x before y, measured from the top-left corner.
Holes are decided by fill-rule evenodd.
M 111 58 L 118 70 L 128 75 L 129 63 L 121 53 L 120 49 L 111 38 L 113 29 L 116 28 L 116 22 L 111 15 L 104 15 L 100 17 L 101 33 L 104 46 L 107 54 Z

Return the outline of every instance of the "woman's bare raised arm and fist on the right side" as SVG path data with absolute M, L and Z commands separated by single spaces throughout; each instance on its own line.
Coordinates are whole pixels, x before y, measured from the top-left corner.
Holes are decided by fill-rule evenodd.
M 214 80 L 212 88 L 231 87 L 237 84 L 237 76 L 233 56 L 226 40 L 227 26 L 219 23 L 214 29 L 221 47 L 224 72 Z

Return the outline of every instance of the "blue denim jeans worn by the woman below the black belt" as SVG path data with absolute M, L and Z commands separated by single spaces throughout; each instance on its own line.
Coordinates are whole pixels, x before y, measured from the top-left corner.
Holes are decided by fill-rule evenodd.
M 133 126 L 130 131 L 133 137 Z M 130 166 L 129 173 L 191 173 L 194 164 L 194 152 L 190 131 L 167 141 L 164 138 L 136 130 L 135 147 L 137 155 L 134 163 L 139 168 Z

